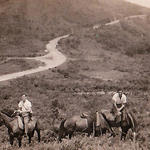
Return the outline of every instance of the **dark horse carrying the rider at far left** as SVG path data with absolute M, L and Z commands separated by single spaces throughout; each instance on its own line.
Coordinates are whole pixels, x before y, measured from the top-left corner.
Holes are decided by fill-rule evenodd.
M 19 147 L 21 147 L 22 136 L 24 135 L 24 129 L 21 129 L 18 123 L 18 117 L 11 117 L 13 111 L 10 110 L 2 110 L 0 112 L 0 125 L 5 125 L 8 129 L 9 141 L 10 144 L 13 145 L 14 138 L 18 139 Z M 34 132 L 38 134 L 38 142 L 40 142 L 40 126 L 39 122 L 36 118 L 32 118 L 28 123 L 28 137 L 29 143 L 31 143 L 31 138 L 34 135 Z

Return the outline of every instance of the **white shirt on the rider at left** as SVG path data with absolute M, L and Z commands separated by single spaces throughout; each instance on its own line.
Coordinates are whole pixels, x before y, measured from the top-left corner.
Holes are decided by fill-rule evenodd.
M 20 101 L 19 104 L 18 104 L 18 107 L 19 107 L 19 108 L 20 108 L 20 107 L 22 108 L 22 112 L 28 111 L 28 112 L 32 113 L 32 109 L 31 109 L 32 104 L 31 104 L 31 102 L 28 101 L 27 99 L 25 100 L 25 102 Z

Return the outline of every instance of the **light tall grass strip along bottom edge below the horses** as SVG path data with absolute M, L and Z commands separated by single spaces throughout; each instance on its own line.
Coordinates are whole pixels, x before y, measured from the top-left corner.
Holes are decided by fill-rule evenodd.
M 3 150 L 12 150 L 13 148 L 1 147 Z M 15 150 L 19 150 L 17 146 Z M 107 137 L 89 138 L 86 136 L 76 136 L 69 139 L 64 139 L 62 143 L 34 143 L 32 146 L 22 147 L 21 150 L 142 150 L 139 143 L 133 143 L 131 141 L 119 141 L 113 143 L 113 139 L 107 139 Z M 148 150 L 145 148 L 144 150 Z

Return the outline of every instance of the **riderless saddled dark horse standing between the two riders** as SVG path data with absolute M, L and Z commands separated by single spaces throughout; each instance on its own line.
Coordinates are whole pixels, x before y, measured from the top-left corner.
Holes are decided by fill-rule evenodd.
M 98 132 L 103 134 L 106 130 L 112 133 L 109 124 L 100 114 L 100 127 Z M 59 127 L 59 141 L 62 140 L 63 137 L 69 135 L 69 139 L 71 139 L 74 132 L 85 132 L 90 136 L 93 133 L 95 136 L 96 126 L 95 126 L 95 115 L 88 115 L 86 117 L 81 117 L 80 115 L 72 116 L 68 119 L 64 119 Z M 97 133 L 99 135 L 99 133 Z

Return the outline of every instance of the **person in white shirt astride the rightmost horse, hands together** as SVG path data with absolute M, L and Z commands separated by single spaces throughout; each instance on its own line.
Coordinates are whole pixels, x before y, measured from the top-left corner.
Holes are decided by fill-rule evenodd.
M 121 115 L 123 110 L 125 110 L 126 104 L 127 104 L 127 97 L 123 93 L 122 90 L 118 90 L 117 93 L 115 93 L 112 97 L 113 101 L 113 108 L 112 112 L 114 112 L 114 109 L 117 110 L 117 115 Z

